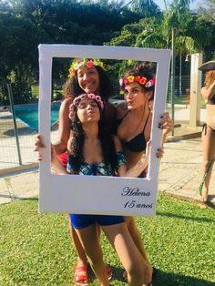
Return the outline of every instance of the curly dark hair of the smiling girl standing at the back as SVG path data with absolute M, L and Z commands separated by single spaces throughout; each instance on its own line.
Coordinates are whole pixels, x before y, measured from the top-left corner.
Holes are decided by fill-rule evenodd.
M 95 67 L 99 75 L 99 95 L 102 100 L 107 101 L 107 99 L 113 95 L 114 88 L 104 69 L 101 66 Z M 68 78 L 63 89 L 65 98 L 74 99 L 83 93 L 83 89 L 78 84 L 77 77 Z

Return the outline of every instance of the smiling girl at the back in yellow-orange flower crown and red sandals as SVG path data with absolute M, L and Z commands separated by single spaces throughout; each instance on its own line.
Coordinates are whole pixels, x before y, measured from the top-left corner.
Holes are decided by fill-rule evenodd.
M 113 88 L 105 72 L 105 67 L 97 58 L 77 58 L 69 67 L 69 74 L 64 85 L 64 100 L 60 106 L 58 118 L 58 140 L 53 144 L 56 154 L 63 166 L 67 167 L 67 141 L 71 133 L 71 119 L 68 117 L 69 107 L 75 97 L 83 92 L 99 94 L 104 103 L 104 120 L 107 132 L 113 130 L 116 121 L 116 108 L 107 99 L 112 96 Z M 40 137 L 37 136 L 35 150 L 40 145 Z M 77 285 L 87 284 L 87 256 L 77 237 L 76 231 L 71 226 L 69 218 L 69 230 L 77 250 L 77 264 L 75 268 L 74 282 Z M 112 270 L 107 267 L 109 279 L 112 277 Z

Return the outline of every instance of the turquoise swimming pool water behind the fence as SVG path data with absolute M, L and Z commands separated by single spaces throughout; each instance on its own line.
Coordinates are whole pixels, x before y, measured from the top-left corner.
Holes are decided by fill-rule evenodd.
M 51 126 L 58 119 L 60 103 L 51 106 Z M 38 105 L 26 105 L 15 107 L 15 117 L 21 119 L 29 128 L 38 128 Z

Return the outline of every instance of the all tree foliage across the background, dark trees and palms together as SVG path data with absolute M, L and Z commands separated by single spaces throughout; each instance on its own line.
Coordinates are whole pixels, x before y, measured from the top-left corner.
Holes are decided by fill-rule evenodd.
M 204 5 L 210 15 L 190 14 L 189 0 L 166 7 L 161 13 L 153 0 L 0 0 L 0 81 L 37 80 L 41 43 L 169 48 L 175 28 L 178 53 L 211 55 L 214 0 Z M 67 66 L 56 60 L 53 78 L 65 79 Z

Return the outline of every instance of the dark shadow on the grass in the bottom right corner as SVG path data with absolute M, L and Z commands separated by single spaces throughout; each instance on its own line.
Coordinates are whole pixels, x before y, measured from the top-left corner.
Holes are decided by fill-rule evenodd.
M 153 286 L 214 286 L 214 282 L 157 270 Z

